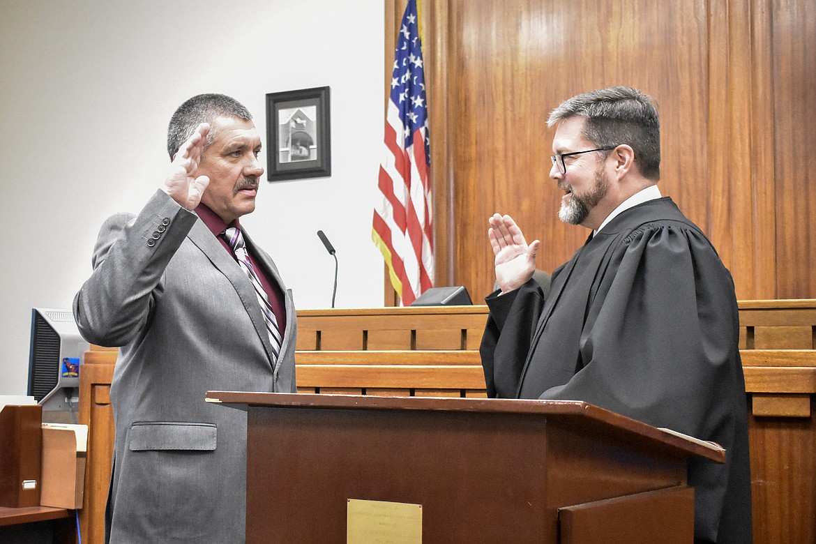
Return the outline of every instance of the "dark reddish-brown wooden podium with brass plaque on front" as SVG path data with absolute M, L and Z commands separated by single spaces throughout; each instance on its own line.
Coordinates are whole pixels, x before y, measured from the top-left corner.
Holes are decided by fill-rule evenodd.
M 247 411 L 250 543 L 347 542 L 351 524 L 371 544 L 693 542 L 686 463 L 725 461 L 711 444 L 579 401 L 234 391 L 206 400 Z M 404 533 L 421 540 L 388 533 L 405 517 L 389 513 L 393 503 L 413 520 Z

